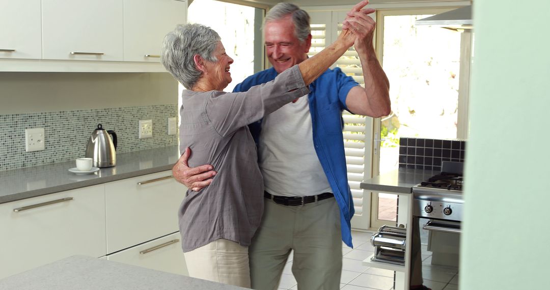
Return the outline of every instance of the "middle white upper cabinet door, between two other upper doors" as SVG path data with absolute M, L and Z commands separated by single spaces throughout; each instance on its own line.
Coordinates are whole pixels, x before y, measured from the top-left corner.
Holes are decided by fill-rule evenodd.
M 42 0 L 42 57 L 122 61 L 122 15 L 122 0 Z

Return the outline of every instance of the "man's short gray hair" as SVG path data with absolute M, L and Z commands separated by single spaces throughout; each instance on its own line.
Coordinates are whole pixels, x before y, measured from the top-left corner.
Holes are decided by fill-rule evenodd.
M 266 14 L 265 23 L 267 24 L 270 21 L 281 20 L 288 15 L 291 15 L 292 22 L 294 23 L 294 35 L 298 40 L 304 42 L 311 33 L 310 17 L 307 12 L 300 9 L 300 7 L 295 4 L 278 3 L 274 5 Z

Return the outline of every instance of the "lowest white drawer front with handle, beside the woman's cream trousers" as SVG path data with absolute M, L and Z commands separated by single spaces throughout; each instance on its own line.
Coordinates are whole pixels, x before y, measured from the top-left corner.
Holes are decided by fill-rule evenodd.
M 107 256 L 109 261 L 189 276 L 179 232 Z

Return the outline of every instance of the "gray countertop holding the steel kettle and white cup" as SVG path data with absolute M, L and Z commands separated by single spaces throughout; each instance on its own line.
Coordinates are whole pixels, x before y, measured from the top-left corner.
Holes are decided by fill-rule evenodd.
M 69 172 L 75 161 L 0 171 L 0 203 L 171 170 L 178 146 L 117 154 L 117 166 L 89 175 Z

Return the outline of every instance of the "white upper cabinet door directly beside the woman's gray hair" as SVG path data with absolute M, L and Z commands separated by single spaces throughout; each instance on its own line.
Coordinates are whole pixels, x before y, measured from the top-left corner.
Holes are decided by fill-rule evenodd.
M 187 2 L 124 0 L 124 61 L 159 62 L 164 36 L 186 16 Z

